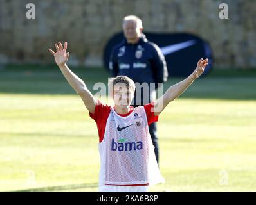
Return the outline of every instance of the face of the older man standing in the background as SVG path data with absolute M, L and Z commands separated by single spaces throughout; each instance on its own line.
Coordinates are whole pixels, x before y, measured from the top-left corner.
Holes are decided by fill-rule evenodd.
M 137 40 L 142 35 L 142 28 L 138 28 L 136 21 L 127 20 L 123 24 L 123 34 L 127 40 Z

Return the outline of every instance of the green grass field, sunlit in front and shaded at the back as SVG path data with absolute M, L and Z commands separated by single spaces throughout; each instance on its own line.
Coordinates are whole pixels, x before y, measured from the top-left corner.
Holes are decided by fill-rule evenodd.
M 102 69 L 74 72 L 90 89 L 107 82 Z M 0 192 L 97 192 L 96 124 L 57 67 L 1 70 L 0 105 Z M 150 190 L 256 192 L 255 125 L 255 71 L 217 70 L 197 80 L 160 115 L 166 183 Z

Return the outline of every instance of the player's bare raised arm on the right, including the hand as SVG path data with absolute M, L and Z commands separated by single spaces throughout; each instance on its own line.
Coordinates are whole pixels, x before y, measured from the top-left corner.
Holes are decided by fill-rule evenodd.
M 169 102 L 174 101 L 179 95 L 183 94 L 185 90 L 194 82 L 195 79 L 199 78 L 203 71 L 205 70 L 206 65 L 208 65 L 208 58 L 203 60 L 201 58 L 197 62 L 197 67 L 188 78 L 184 79 L 183 81 L 176 83 L 163 94 L 159 99 L 157 99 L 154 105 L 154 113 L 155 115 L 159 115 L 163 109 L 169 104 Z

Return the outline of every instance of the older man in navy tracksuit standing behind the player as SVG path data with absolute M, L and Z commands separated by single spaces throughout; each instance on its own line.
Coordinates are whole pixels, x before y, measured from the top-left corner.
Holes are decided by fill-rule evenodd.
M 123 19 L 125 39 L 116 45 L 111 53 L 109 69 L 112 76 L 127 76 L 136 84 L 133 106 L 145 105 L 156 99 L 158 83 L 167 81 L 166 62 L 158 45 L 149 42 L 142 33 L 142 20 L 134 15 Z M 142 85 L 147 85 L 147 88 Z M 152 89 L 150 83 L 154 83 Z M 142 85 L 142 86 L 140 86 Z M 159 163 L 158 136 L 156 122 L 149 125 L 149 133 L 155 147 L 156 160 Z

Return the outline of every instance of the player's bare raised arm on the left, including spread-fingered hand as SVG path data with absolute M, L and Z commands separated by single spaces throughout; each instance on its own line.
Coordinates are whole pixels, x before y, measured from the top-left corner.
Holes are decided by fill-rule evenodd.
M 82 79 L 80 79 L 76 74 L 74 74 L 66 65 L 68 61 L 69 52 L 66 53 L 68 44 L 67 42 L 64 43 L 64 47 L 59 42 L 59 44 L 55 44 L 56 52 L 49 49 L 49 51 L 53 54 L 56 64 L 59 66 L 62 74 L 67 79 L 69 85 L 77 92 L 78 95 L 82 98 L 87 110 L 90 113 L 94 113 L 96 100 L 93 97 L 93 94 L 87 89 L 86 84 Z

